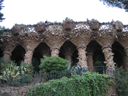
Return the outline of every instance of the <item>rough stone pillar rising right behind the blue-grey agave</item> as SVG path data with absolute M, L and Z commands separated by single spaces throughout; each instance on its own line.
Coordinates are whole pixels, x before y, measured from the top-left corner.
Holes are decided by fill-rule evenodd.
M 85 46 L 80 46 L 77 48 L 78 49 L 78 59 L 79 62 L 78 64 L 80 66 L 84 66 L 85 68 L 88 68 L 87 66 L 87 56 L 86 56 L 86 47 Z

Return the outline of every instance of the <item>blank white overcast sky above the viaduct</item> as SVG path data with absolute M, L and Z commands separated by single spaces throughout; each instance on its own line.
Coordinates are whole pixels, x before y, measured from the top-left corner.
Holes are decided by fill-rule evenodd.
M 99 0 L 4 0 L 1 12 L 5 20 L 1 26 L 37 24 L 40 21 L 62 22 L 66 17 L 74 21 L 96 19 L 99 22 L 121 21 L 128 24 L 128 12 L 103 5 Z

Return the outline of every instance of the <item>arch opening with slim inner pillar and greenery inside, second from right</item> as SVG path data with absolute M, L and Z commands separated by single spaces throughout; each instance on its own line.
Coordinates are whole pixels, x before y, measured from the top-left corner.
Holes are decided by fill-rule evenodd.
M 94 67 L 99 68 L 98 70 L 104 69 L 104 67 L 102 66 L 105 66 L 105 58 L 104 54 L 102 53 L 102 47 L 97 41 L 92 40 L 89 42 L 89 44 L 87 45 L 87 56 L 89 70 L 92 71 L 92 68 Z

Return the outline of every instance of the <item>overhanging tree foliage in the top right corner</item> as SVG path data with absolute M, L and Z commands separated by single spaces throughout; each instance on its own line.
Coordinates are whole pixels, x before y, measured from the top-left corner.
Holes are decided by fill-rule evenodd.
M 100 0 L 103 4 L 106 4 L 111 7 L 118 7 L 125 9 L 128 12 L 128 0 Z

